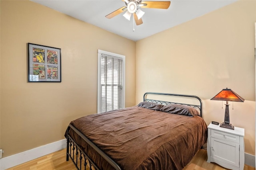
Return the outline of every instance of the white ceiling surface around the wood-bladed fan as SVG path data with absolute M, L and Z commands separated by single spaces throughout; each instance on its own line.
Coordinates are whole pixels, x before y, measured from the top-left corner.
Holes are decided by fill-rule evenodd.
M 170 7 L 167 10 L 142 8 L 141 10 L 145 12 L 142 17 L 143 24 L 138 26 L 134 24 L 135 31 L 133 31 L 133 20 L 126 20 L 124 16 L 122 16 L 124 12 L 112 19 L 105 18 L 105 16 L 111 12 L 121 8 L 122 6 L 126 6 L 122 0 L 32 1 L 112 33 L 116 33 L 122 37 L 138 41 L 231 4 L 236 0 L 171 0 Z

